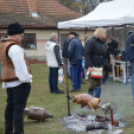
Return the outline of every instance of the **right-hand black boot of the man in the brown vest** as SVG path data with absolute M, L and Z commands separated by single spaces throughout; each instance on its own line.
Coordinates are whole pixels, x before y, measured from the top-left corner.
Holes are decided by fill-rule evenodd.
M 14 134 L 24 134 L 23 122 L 14 123 Z

